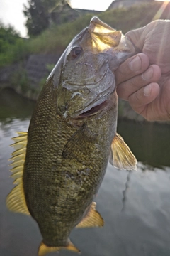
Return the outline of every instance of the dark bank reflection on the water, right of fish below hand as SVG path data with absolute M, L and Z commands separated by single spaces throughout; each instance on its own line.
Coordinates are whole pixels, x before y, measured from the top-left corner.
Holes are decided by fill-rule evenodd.
M 151 166 L 170 166 L 170 124 L 118 121 L 118 132 L 138 161 Z

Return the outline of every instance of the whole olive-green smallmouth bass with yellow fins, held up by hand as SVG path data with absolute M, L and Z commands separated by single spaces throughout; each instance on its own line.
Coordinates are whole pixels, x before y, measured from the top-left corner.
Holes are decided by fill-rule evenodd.
M 135 169 L 136 159 L 116 134 L 114 70 L 135 54 L 120 31 L 92 18 L 52 70 L 27 132 L 13 138 L 16 187 L 9 210 L 31 215 L 42 234 L 38 255 L 62 248 L 79 252 L 72 229 L 102 227 L 94 198 L 108 160 Z

